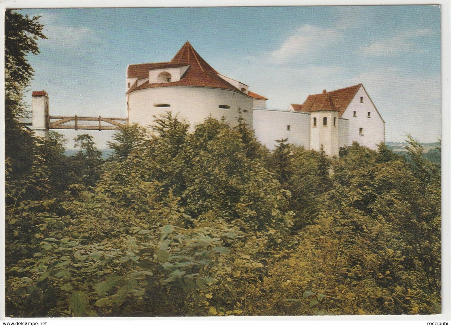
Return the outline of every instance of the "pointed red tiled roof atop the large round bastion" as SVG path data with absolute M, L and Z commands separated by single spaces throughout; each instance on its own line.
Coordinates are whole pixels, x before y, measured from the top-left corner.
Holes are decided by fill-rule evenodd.
M 167 86 L 196 86 L 196 87 L 213 87 L 230 89 L 235 92 L 241 92 L 238 88 L 228 83 L 226 80 L 218 76 L 213 69 L 202 57 L 194 50 L 193 46 L 186 41 L 182 48 L 169 62 L 159 62 L 150 64 L 131 64 L 127 69 L 127 78 L 145 79 L 149 77 L 151 69 L 165 69 L 189 66 L 188 70 L 181 76 L 177 82 L 170 83 L 149 83 L 148 81 L 140 86 L 135 83 L 129 88 L 128 93 L 139 89 Z M 251 93 L 251 92 L 249 92 Z M 252 93 L 248 94 L 253 98 L 267 99 L 266 97 Z

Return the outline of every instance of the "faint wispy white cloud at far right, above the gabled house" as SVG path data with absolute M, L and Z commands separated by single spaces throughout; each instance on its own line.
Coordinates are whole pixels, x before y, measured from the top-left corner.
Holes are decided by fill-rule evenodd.
M 401 33 L 395 37 L 377 41 L 360 50 L 365 55 L 398 56 L 402 52 L 424 52 L 418 45 L 416 37 L 428 36 L 433 33 L 430 29 L 421 29 L 412 33 Z

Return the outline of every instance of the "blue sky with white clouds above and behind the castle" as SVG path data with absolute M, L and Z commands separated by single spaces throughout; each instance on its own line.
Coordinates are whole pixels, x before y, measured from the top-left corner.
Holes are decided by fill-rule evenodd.
M 169 61 L 189 40 L 218 72 L 285 110 L 363 83 L 386 140 L 440 137 L 440 8 L 311 6 L 24 9 L 48 40 L 28 60 L 51 115 L 125 117 L 128 64 Z M 31 92 L 28 94 L 31 103 Z M 83 131 L 85 132 L 85 131 Z M 80 131 L 64 131 L 72 139 Z M 112 132 L 91 132 L 99 148 Z M 72 142 L 68 143 L 72 147 Z

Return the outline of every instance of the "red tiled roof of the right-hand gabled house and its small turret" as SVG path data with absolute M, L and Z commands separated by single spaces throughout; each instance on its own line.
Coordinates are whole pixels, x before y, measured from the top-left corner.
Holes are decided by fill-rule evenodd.
M 328 95 L 329 99 L 331 100 L 330 103 L 326 103 L 326 107 L 329 107 L 327 110 L 337 110 L 339 111 L 339 116 L 345 112 L 346 108 L 349 106 L 351 100 L 354 98 L 355 94 L 359 90 L 359 88 L 362 86 L 362 84 L 345 87 L 341 89 L 337 89 L 332 92 L 326 92 L 326 93 L 320 93 L 315 95 L 309 95 L 307 99 L 305 100 L 302 107 L 295 111 L 301 111 L 301 112 L 311 112 L 311 111 L 318 111 L 318 107 L 320 107 L 325 101 L 325 96 Z M 332 106 L 335 107 L 335 109 L 332 109 Z

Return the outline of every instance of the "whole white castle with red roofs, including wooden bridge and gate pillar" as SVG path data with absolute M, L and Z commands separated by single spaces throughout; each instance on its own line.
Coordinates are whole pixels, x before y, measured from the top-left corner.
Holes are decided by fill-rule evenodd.
M 362 84 L 323 90 L 309 95 L 303 104 L 291 104 L 288 110 L 269 110 L 266 97 L 218 73 L 188 41 L 169 62 L 130 64 L 125 87 L 127 119 L 52 117 L 47 93 L 33 92 L 33 130 L 46 137 L 48 129 L 97 129 L 80 128 L 77 121 L 81 119 L 95 120 L 99 130 L 117 130 L 123 123 L 152 124 L 153 116 L 166 111 L 186 119 L 191 128 L 209 116 L 224 117 L 233 127 L 241 110 L 255 136 L 269 149 L 276 140 L 288 138 L 294 145 L 316 151 L 322 148 L 327 155 L 336 156 L 339 147 L 354 141 L 371 149 L 385 141 L 385 121 Z M 57 121 L 51 123 L 51 119 Z M 64 125 L 71 121 L 74 126 Z M 112 126 L 102 127 L 102 121 Z

